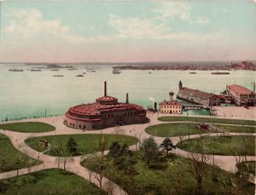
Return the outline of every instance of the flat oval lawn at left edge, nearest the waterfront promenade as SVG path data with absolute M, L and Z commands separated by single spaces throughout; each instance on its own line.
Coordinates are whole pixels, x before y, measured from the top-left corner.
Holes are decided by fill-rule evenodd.
M 55 130 L 55 127 L 48 123 L 24 122 L 0 124 L 0 129 L 12 130 L 24 133 L 43 133 Z

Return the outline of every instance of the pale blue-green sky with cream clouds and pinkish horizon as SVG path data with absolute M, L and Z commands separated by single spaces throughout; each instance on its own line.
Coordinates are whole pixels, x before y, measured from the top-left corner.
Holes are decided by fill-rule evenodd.
M 2 0 L 0 31 L 0 62 L 256 60 L 256 1 Z

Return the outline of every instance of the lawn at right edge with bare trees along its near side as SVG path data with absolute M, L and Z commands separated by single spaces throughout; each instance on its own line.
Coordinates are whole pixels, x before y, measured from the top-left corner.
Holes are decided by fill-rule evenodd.
M 245 148 L 248 144 L 247 156 L 255 155 L 255 136 L 202 136 L 201 138 L 179 142 L 177 147 L 189 152 L 199 152 L 199 141 L 204 147 L 204 153 L 232 156 L 236 148 Z

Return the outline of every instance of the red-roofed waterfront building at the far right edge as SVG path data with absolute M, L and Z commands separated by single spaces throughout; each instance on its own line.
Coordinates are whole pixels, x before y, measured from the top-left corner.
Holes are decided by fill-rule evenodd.
M 237 84 L 228 85 L 226 90 L 237 106 L 256 106 L 256 95 L 252 90 Z

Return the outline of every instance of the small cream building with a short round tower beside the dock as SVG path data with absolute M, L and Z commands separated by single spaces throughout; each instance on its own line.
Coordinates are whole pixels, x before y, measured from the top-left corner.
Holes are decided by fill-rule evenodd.
M 163 114 L 182 114 L 183 113 L 183 104 L 177 100 L 173 100 L 174 93 L 171 91 L 169 93 L 170 100 L 164 100 L 160 102 L 160 113 Z

